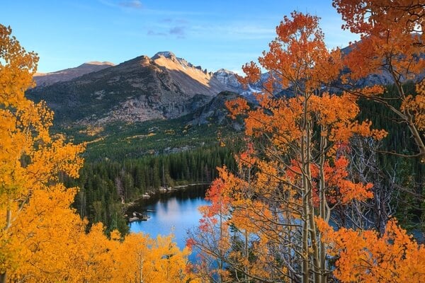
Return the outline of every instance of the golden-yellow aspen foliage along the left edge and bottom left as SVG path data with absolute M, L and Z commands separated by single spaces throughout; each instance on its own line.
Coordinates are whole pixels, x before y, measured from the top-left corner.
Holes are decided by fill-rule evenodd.
M 172 236 L 106 236 L 71 208 L 84 144 L 52 136 L 53 113 L 24 96 L 38 57 L 0 25 L 0 282 L 194 282 Z

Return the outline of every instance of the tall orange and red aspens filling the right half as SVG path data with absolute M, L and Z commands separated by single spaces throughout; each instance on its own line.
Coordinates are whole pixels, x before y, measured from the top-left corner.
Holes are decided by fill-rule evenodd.
M 349 52 L 329 51 L 319 18 L 293 12 L 276 28 L 276 40 L 259 64 L 242 67 L 242 83 L 259 81 L 262 70 L 268 79 L 254 94 L 254 105 L 244 98 L 227 103 L 229 117 L 244 117 L 246 148 L 235 156 L 237 172 L 219 169 L 220 178 L 210 188 L 212 204 L 201 210 L 201 232 L 191 239 L 202 255 L 198 272 L 204 278 L 424 281 L 424 247 L 397 221 L 389 221 L 380 235 L 365 226 L 353 229 L 350 215 L 356 209 L 361 213 L 362 205 L 374 197 L 373 183 L 353 174 L 351 140 L 387 136 L 373 129 L 370 120 L 358 120 L 359 98 L 395 112 L 412 132 L 419 149 L 414 156 L 424 156 L 423 82 L 416 84 L 414 95 L 405 93 L 402 85 L 424 69 L 421 33 L 412 35 L 418 25 L 423 28 L 421 16 L 415 18 L 423 10 L 416 1 L 405 2 L 411 6 L 334 1 L 346 21 L 344 28 L 362 36 Z M 382 71 L 395 81 L 397 98 L 382 98 L 384 86 L 358 86 L 360 79 Z M 400 108 L 390 101 L 396 99 Z M 335 218 L 341 215 L 345 221 Z M 208 267 L 216 277 L 205 272 Z

